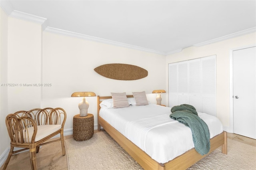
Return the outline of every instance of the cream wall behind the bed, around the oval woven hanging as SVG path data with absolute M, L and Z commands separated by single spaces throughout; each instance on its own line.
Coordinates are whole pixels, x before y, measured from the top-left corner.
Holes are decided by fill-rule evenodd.
M 103 77 L 94 68 L 107 63 L 137 65 L 148 71 L 148 76 L 132 81 Z M 76 91 L 92 91 L 109 96 L 111 92 L 132 94 L 146 91 L 148 100 L 156 103 L 154 89 L 165 88 L 165 56 L 126 47 L 93 42 L 43 32 L 42 82 L 51 87 L 42 88 L 42 107 L 63 107 L 68 115 L 65 129 L 72 128 L 72 118 L 79 114 L 80 97 L 70 97 Z M 86 97 L 88 113 L 94 114 L 97 127 L 96 97 Z M 165 98 L 162 101 L 166 104 Z

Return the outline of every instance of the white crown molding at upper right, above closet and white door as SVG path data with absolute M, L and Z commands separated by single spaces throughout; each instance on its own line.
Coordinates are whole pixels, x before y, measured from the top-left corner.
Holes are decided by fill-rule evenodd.
M 235 32 L 233 34 L 228 34 L 226 36 L 222 36 L 220 38 L 215 38 L 215 39 L 212 39 L 212 40 L 209 40 L 209 41 L 206 41 L 206 42 L 197 43 L 197 44 L 194 44 L 193 46 L 200 47 L 200 46 L 203 46 L 203 45 L 208 45 L 210 43 L 220 42 L 220 41 L 228 40 L 230 38 L 235 38 L 235 37 L 242 36 L 242 35 L 245 35 L 245 34 L 250 34 L 252 32 L 256 32 L 256 27 L 249 28 L 247 30 L 242 30 L 240 32 Z

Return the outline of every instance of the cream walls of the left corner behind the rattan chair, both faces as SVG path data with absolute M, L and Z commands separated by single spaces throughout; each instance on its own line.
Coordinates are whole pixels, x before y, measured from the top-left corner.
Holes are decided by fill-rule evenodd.
M 8 17 L 2 9 L 0 23 L 0 164 L 3 164 L 10 149 L 6 116 L 41 106 L 41 87 L 24 84 L 41 82 L 42 30 L 40 24 Z

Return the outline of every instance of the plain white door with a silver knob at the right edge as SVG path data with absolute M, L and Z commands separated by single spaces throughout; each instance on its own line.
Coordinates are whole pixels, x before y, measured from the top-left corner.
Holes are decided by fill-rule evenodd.
M 233 51 L 234 133 L 256 139 L 256 47 Z

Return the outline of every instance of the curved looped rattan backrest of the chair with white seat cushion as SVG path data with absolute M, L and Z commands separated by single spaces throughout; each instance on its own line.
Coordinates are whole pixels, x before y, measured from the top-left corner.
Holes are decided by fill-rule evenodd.
M 46 107 L 44 109 L 32 109 L 30 111 L 17 111 L 6 117 L 6 127 L 11 142 L 27 143 L 34 142 L 39 125 L 62 125 L 66 122 L 66 111 L 57 107 L 55 109 Z M 34 133 L 28 134 L 28 128 L 34 127 Z M 30 140 L 29 140 L 30 139 Z

